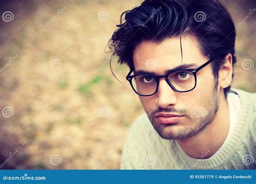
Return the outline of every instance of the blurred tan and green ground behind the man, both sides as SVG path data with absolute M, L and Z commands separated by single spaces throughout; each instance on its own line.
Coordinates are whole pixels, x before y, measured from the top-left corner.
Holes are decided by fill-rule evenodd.
M 255 92 L 255 1 L 223 1 L 237 26 L 232 87 Z M 119 169 L 144 112 L 104 52 L 142 1 L 0 1 L 0 169 Z M 106 48 L 106 51 L 108 49 Z

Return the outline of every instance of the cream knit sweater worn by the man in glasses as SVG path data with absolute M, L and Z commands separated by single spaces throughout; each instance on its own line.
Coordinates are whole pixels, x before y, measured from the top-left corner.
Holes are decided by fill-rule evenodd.
M 121 169 L 256 169 L 256 94 L 232 90 L 241 99 L 240 116 L 218 153 L 207 159 L 207 152 L 199 159 L 189 157 L 176 140 L 161 138 L 143 114 L 127 135 Z

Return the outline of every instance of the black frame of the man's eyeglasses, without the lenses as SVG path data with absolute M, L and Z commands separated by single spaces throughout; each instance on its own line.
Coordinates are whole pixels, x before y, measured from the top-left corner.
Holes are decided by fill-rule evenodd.
M 154 75 L 154 74 L 134 74 L 134 75 L 131 75 L 131 73 L 134 71 L 134 68 L 133 68 L 133 69 L 131 69 L 130 72 L 127 74 L 126 80 L 130 82 L 133 91 L 134 91 L 137 95 L 139 95 L 139 96 L 152 96 L 152 95 L 156 94 L 156 93 L 157 93 L 157 90 L 158 90 L 158 87 L 159 87 L 159 79 L 161 79 L 161 78 L 165 78 L 165 81 L 167 82 L 167 84 L 169 84 L 169 86 L 170 86 L 174 91 L 177 91 L 177 92 L 179 92 L 179 93 L 186 93 L 186 92 L 192 91 L 194 88 L 196 88 L 196 86 L 197 86 L 197 72 L 198 72 L 200 69 L 202 69 L 202 68 L 204 68 L 205 66 L 207 66 L 209 63 L 211 63 L 213 60 L 214 60 L 214 59 L 208 60 L 207 62 L 205 62 L 203 65 L 201 65 L 201 66 L 198 67 L 198 68 L 193 68 L 193 69 L 176 69 L 176 70 L 172 70 L 172 71 L 166 73 L 165 75 Z M 168 79 L 168 76 L 169 76 L 171 73 L 178 72 L 178 71 L 188 71 L 188 72 L 191 72 L 191 73 L 194 75 L 195 83 L 194 83 L 194 87 L 193 87 L 192 89 L 186 90 L 186 91 L 180 91 L 180 90 L 176 89 L 176 88 L 172 85 L 172 83 L 171 83 L 170 80 Z M 151 76 L 151 77 L 154 77 L 154 79 L 156 79 L 156 81 L 157 81 L 157 88 L 156 88 L 156 91 L 154 91 L 153 94 L 151 94 L 151 95 L 142 95 L 142 94 L 137 93 L 137 91 L 134 89 L 134 87 L 133 87 L 133 85 L 132 85 L 132 79 L 133 79 L 133 77 L 140 76 L 140 75 Z

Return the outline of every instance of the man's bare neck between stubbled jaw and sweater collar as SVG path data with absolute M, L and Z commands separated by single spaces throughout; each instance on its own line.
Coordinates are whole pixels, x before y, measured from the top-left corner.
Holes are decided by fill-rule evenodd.
M 229 108 L 223 94 L 220 95 L 219 109 L 212 122 L 196 135 L 185 140 L 178 140 L 178 144 L 190 157 L 201 158 L 204 154 L 204 158 L 209 158 L 223 145 L 229 129 Z

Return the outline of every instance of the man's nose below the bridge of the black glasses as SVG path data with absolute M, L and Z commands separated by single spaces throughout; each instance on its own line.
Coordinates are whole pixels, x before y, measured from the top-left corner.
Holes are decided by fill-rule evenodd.
M 157 90 L 156 104 L 161 108 L 171 108 L 176 103 L 176 91 L 169 86 L 165 79 L 160 79 Z

